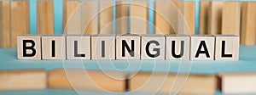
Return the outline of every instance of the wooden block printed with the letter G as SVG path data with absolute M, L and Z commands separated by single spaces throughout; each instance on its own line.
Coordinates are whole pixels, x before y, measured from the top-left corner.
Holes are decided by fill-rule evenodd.
M 163 35 L 142 35 L 141 59 L 160 59 L 166 57 L 166 37 Z

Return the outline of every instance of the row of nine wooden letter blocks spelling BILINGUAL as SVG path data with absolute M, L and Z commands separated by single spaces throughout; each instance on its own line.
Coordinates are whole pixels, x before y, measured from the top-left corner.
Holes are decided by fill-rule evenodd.
M 238 60 L 231 35 L 22 35 L 18 59 Z

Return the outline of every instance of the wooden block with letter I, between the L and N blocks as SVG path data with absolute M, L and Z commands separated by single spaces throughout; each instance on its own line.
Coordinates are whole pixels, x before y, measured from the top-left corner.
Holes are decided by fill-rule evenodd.
M 115 59 L 115 36 L 91 36 L 91 59 Z

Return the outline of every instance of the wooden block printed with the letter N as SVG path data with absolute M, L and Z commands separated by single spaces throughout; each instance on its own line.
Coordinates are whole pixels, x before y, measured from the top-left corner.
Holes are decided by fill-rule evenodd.
M 140 59 L 141 36 L 118 35 L 116 36 L 116 59 Z

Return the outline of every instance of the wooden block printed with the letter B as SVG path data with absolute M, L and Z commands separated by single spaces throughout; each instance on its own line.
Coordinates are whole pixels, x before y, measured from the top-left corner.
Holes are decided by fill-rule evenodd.
M 41 59 L 41 36 L 17 36 L 18 59 Z

